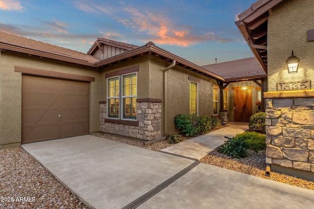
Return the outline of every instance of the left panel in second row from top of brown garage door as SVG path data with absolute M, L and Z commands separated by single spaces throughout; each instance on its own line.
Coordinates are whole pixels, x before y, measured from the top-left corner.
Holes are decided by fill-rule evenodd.
M 53 93 L 22 93 L 24 108 L 58 107 L 59 96 Z

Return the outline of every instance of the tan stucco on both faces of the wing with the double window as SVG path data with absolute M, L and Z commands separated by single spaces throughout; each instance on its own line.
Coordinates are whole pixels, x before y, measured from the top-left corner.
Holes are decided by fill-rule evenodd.
M 122 62 L 102 71 L 101 100 L 106 100 L 105 73 L 139 66 L 137 72 L 137 98 L 161 99 L 161 133 L 174 134 L 174 119 L 179 114 L 189 113 L 189 75 L 199 79 L 198 82 L 198 115 L 212 115 L 212 83 L 214 79 L 187 70 L 179 65 L 167 71 L 167 133 L 164 131 L 164 98 L 163 98 L 163 70 L 171 65 L 170 61 L 160 59 L 154 55 L 144 55 Z

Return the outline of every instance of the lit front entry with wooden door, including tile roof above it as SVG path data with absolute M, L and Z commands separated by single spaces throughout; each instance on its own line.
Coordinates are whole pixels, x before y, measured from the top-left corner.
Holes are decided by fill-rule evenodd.
M 255 57 L 202 66 L 225 79 L 220 113 L 228 114 L 228 121 L 249 122 L 250 116 L 264 110 L 262 93 L 267 77 Z M 225 112 L 224 112 L 225 111 Z

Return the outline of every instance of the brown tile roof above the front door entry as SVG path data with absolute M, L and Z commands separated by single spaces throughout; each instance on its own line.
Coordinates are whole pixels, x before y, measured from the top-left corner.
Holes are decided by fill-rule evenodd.
M 223 77 L 226 81 L 237 81 L 267 77 L 255 57 L 201 66 Z

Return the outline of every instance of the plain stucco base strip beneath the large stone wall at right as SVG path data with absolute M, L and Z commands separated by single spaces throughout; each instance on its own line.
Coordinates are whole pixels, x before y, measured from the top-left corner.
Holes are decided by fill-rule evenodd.
M 313 172 L 311 171 L 299 170 L 299 169 L 294 169 L 291 167 L 283 167 L 276 164 L 271 164 L 270 171 L 285 173 L 290 176 L 296 176 L 301 179 L 314 181 L 314 175 L 313 175 Z M 271 172 L 270 172 L 270 175 L 271 175 Z

